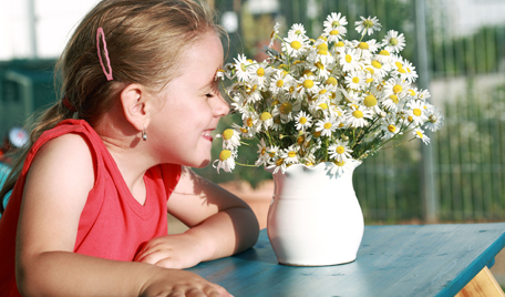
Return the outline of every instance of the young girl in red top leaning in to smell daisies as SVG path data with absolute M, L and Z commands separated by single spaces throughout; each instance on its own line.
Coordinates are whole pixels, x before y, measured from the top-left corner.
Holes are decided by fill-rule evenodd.
M 3 187 L 2 296 L 229 296 L 181 270 L 252 246 L 243 201 L 188 167 L 209 163 L 228 106 L 224 51 L 204 3 L 103 0 L 62 59 Z M 16 185 L 14 185 L 16 183 Z M 167 212 L 190 228 L 167 235 Z

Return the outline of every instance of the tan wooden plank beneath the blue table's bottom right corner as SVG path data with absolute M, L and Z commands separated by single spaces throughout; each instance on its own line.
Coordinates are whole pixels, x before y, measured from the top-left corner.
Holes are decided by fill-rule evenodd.
M 486 266 L 455 297 L 505 297 L 505 294 Z

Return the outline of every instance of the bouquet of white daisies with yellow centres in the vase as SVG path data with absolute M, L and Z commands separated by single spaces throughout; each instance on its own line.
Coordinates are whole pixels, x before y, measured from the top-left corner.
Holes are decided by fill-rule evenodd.
M 218 135 L 218 172 L 240 164 L 238 147 L 251 142 L 258 147 L 254 166 L 285 173 L 292 164 L 331 162 L 338 174 L 352 160 L 362 161 L 388 143 L 398 145 L 402 135 L 430 142 L 424 131 L 441 129 L 443 115 L 426 102 L 429 91 L 413 85 L 415 68 L 399 54 L 404 35 L 390 30 L 382 41 L 363 40 L 381 24 L 361 17 L 355 22 L 361 39 L 347 40 L 347 24 L 346 17 L 333 12 L 315 40 L 302 24 L 281 38 L 277 23 L 268 59 L 257 62 L 239 54 L 218 71 L 216 79 L 231 81 L 225 91 L 233 111 L 241 114 L 241 123 Z M 272 49 L 275 40 L 280 52 Z

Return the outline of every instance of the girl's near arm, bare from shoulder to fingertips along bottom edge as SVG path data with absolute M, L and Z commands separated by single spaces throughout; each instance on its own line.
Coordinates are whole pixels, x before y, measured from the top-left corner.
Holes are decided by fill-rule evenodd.
M 17 284 L 23 296 L 169 296 L 177 290 L 182 296 L 229 296 L 188 272 L 72 253 L 93 183 L 92 157 L 80 136 L 54 139 L 37 154 L 17 238 Z

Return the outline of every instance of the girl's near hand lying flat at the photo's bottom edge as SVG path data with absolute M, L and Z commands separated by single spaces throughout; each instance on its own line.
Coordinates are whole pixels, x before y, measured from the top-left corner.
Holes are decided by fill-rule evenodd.
M 140 296 L 233 297 L 221 286 L 209 283 L 196 274 L 184 270 L 164 270 L 164 273 L 156 274 L 155 277 L 145 284 Z

